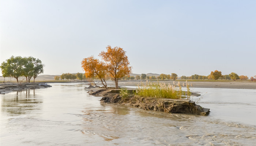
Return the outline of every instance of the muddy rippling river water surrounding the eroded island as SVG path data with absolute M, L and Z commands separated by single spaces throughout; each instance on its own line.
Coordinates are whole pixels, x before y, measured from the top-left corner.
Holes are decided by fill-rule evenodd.
M 1 146 L 255 145 L 256 90 L 194 88 L 209 116 L 102 104 L 84 84 L 0 95 Z M 198 98 L 194 98 L 197 100 Z

